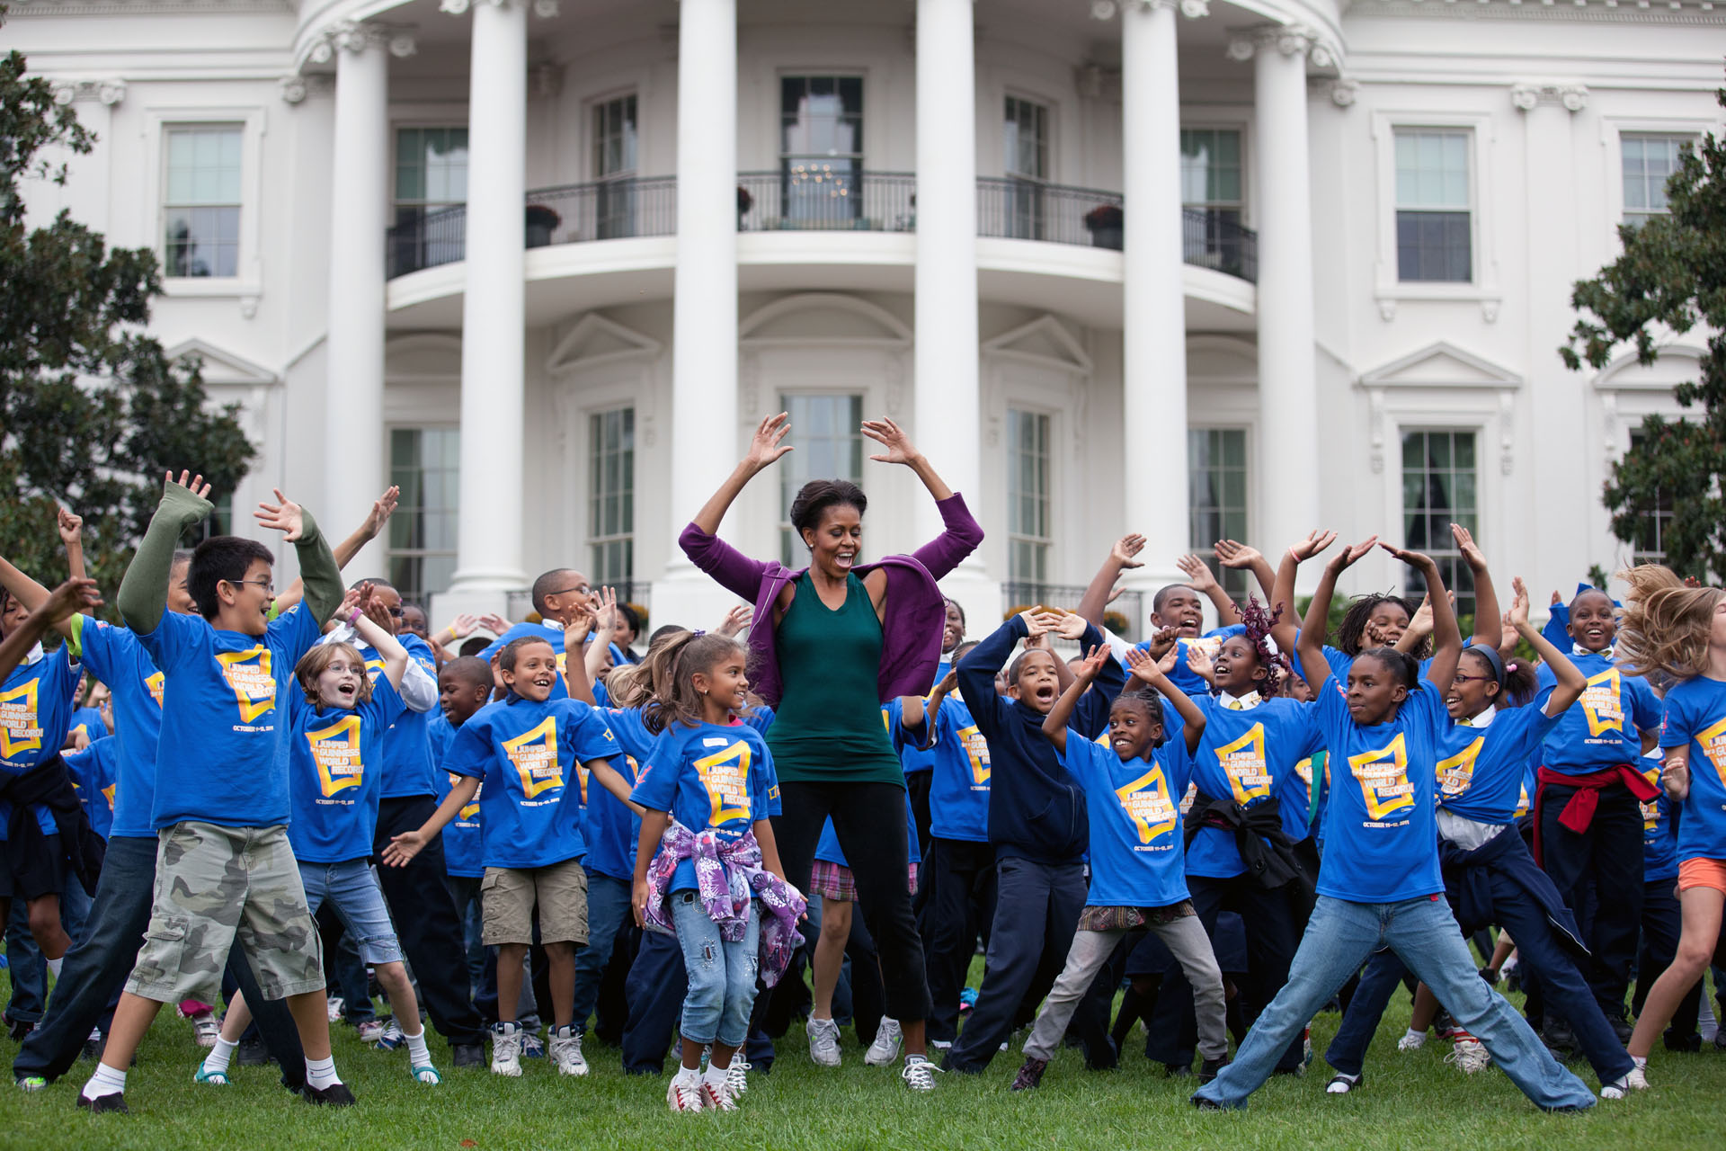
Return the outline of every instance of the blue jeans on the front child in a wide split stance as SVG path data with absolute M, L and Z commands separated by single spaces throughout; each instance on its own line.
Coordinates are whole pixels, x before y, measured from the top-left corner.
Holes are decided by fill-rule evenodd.
M 1260 1013 L 1234 1063 L 1194 1092 L 1227 1108 L 1246 1098 L 1307 1022 L 1348 982 L 1362 959 L 1389 946 L 1471 1035 L 1486 1044 L 1493 1063 L 1541 1110 L 1591 1108 L 1593 1092 L 1559 1066 L 1545 1044 L 1503 997 L 1491 991 L 1469 958 L 1462 928 L 1443 897 L 1402 903 L 1348 903 L 1319 896 L 1294 953 L 1289 982 Z

